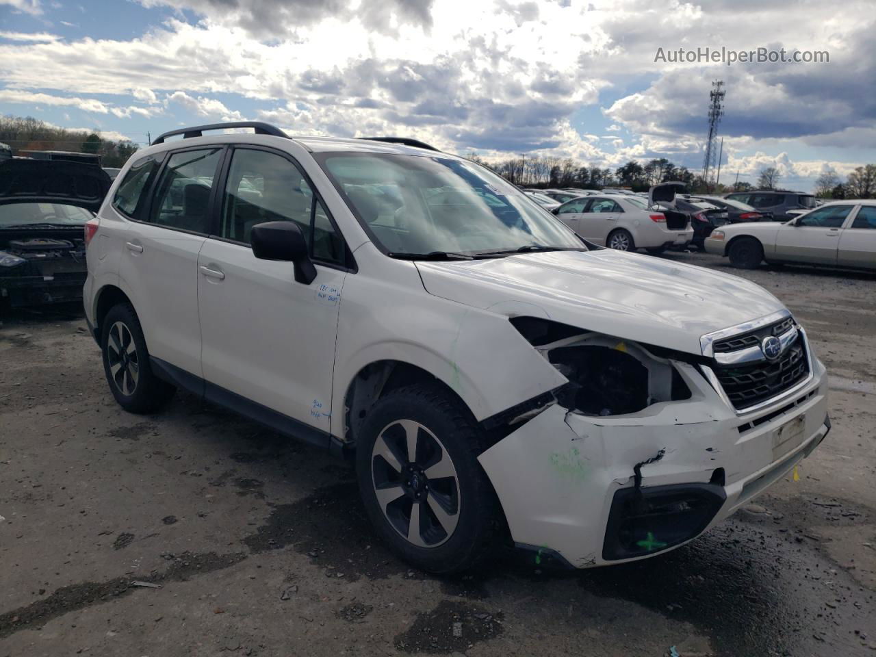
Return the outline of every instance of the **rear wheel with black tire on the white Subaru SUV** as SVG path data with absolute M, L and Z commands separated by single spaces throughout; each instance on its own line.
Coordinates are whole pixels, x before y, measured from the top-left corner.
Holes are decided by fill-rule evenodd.
M 101 351 L 109 391 L 124 410 L 152 413 L 173 397 L 176 388 L 152 373 L 143 329 L 130 303 L 110 308 L 103 318 Z

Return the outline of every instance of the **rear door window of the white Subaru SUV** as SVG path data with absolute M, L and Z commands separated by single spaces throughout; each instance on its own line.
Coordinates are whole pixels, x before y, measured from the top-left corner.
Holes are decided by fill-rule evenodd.
M 222 148 L 175 152 L 161 173 L 149 223 L 207 234 L 209 202 Z

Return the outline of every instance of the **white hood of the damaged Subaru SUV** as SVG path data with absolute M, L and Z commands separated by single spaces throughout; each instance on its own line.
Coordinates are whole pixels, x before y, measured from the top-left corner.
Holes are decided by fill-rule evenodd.
M 783 308 L 745 279 L 609 249 L 416 265 L 442 299 L 696 355 L 700 336 Z

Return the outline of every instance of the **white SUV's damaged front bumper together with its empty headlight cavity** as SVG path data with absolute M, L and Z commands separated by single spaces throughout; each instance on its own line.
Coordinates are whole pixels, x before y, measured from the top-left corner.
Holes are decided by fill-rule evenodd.
M 823 365 L 811 354 L 802 384 L 740 412 L 710 383 L 704 357 L 550 321 L 512 323 L 569 383 L 506 415 L 479 461 L 514 542 L 576 568 L 695 538 L 830 428 Z

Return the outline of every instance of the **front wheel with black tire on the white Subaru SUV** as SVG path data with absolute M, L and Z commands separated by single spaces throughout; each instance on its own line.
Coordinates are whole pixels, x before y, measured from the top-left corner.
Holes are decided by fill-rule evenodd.
M 407 457 L 407 427 L 415 427 L 413 463 Z M 500 515 L 477 463 L 482 449 L 483 431 L 468 409 L 438 385 L 399 388 L 371 408 L 357 440 L 359 491 L 371 524 L 396 555 L 430 573 L 469 569 L 486 555 Z M 447 471 L 445 457 L 453 474 L 434 477 L 442 474 L 436 464 Z M 385 496 L 383 504 L 378 492 Z M 419 545 L 402 533 L 410 535 L 415 507 L 421 516 L 414 533 Z M 443 525 L 433 509 L 443 509 Z M 448 532 L 444 526 L 451 523 Z

